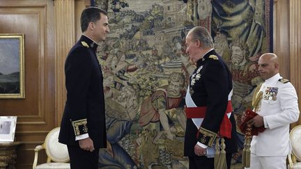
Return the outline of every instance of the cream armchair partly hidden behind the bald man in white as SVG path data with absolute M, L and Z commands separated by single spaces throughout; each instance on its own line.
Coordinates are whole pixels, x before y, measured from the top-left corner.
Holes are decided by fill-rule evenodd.
M 292 153 L 288 154 L 288 169 L 301 169 L 301 125 L 294 127 L 290 132 Z

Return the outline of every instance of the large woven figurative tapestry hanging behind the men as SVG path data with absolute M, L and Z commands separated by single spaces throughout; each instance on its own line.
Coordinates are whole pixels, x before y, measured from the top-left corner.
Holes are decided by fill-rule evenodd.
M 93 1 L 107 5 L 110 29 L 97 51 L 108 143 L 100 150 L 100 168 L 188 168 L 183 108 L 195 66 L 185 54 L 185 36 L 196 25 L 208 28 L 229 65 L 239 119 L 262 81 L 258 56 L 271 51 L 270 1 Z M 240 162 L 239 156 L 233 163 Z

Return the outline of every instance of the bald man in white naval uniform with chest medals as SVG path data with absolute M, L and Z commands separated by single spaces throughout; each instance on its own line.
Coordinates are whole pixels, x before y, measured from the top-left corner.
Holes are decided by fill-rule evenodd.
M 258 60 L 259 74 L 264 83 L 254 95 L 262 95 L 255 118 L 248 124 L 265 127 L 253 136 L 250 168 L 286 168 L 286 156 L 291 151 L 289 126 L 299 118 L 298 96 L 293 85 L 279 75 L 279 59 L 275 54 L 263 54 Z

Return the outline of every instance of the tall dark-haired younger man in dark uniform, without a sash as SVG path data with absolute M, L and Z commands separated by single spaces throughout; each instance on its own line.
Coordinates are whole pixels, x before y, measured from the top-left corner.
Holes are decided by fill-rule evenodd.
M 107 12 L 86 8 L 83 35 L 65 61 L 67 102 L 59 142 L 67 145 L 71 168 L 98 168 L 99 149 L 107 146 L 102 71 L 95 51 L 109 33 Z

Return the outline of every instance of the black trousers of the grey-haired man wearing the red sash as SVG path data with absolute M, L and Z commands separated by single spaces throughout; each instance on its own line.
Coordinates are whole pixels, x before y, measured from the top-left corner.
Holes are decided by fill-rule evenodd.
M 231 167 L 232 154 L 226 154 L 227 168 Z M 190 169 L 214 169 L 214 158 L 206 156 L 189 157 Z

